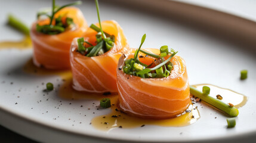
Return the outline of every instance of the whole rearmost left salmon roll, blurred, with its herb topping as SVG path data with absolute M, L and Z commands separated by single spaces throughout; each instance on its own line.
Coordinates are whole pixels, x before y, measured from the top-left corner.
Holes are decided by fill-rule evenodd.
M 80 4 L 74 2 L 69 5 Z M 53 7 L 55 2 L 53 1 Z M 42 18 L 47 15 L 47 18 Z M 70 69 L 69 51 L 74 38 L 84 35 L 88 25 L 82 12 L 64 5 L 53 8 L 52 14 L 38 13 L 30 36 L 33 43 L 33 63 L 46 69 Z

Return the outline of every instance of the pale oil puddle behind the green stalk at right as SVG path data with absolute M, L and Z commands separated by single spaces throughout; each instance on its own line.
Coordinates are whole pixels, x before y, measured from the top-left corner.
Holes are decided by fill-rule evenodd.
M 221 97 L 223 97 L 221 101 L 226 102 L 227 104 L 232 103 L 236 108 L 242 107 L 247 102 L 247 97 L 245 95 L 239 94 L 238 92 L 232 91 L 230 89 L 220 88 L 210 84 L 192 86 L 194 86 L 199 91 L 202 91 L 203 86 L 208 86 L 211 89 L 209 96 L 217 98 L 217 95 L 221 95 Z

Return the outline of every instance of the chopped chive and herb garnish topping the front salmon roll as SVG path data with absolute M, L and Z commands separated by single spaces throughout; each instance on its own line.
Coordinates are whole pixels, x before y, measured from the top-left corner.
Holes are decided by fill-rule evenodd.
M 174 55 L 177 54 L 177 52 L 175 52 L 173 49 L 169 51 L 168 46 L 161 46 L 159 55 L 144 51 L 140 48 L 143 45 L 145 39 L 146 39 L 146 34 L 144 34 L 143 37 L 141 38 L 140 47 L 135 51 L 134 58 L 125 60 L 125 65 L 123 67 L 124 73 L 143 77 L 143 78 L 168 77 L 172 70 L 172 63 L 169 60 L 171 60 L 171 58 L 174 57 Z M 149 68 L 153 66 L 154 62 L 149 65 L 141 63 L 140 60 L 138 59 L 138 52 L 143 52 L 147 56 L 156 58 L 155 61 L 159 61 L 161 63 L 156 64 L 155 62 L 156 66 L 153 68 Z M 166 57 L 169 54 L 171 55 L 167 60 L 165 60 L 164 57 Z

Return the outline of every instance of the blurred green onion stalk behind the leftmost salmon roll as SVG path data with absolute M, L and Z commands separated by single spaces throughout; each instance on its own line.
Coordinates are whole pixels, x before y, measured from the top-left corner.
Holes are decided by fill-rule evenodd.
M 8 14 L 8 25 L 29 36 L 29 27 L 12 14 Z

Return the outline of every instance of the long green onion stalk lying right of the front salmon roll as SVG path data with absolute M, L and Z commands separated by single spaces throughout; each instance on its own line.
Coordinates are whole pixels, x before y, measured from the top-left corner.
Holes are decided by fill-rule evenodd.
M 207 102 L 210 105 L 224 111 L 225 113 L 229 114 L 229 116 L 236 117 L 239 114 L 239 111 L 235 107 L 230 107 L 230 105 L 226 104 L 225 102 L 213 98 L 209 95 L 203 94 L 203 92 L 198 91 L 198 89 L 190 86 L 190 94 L 195 95 L 195 97 L 201 98 L 202 101 Z

